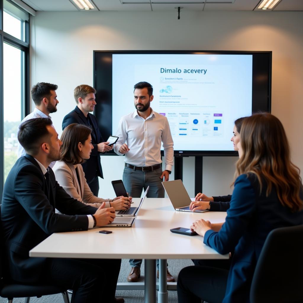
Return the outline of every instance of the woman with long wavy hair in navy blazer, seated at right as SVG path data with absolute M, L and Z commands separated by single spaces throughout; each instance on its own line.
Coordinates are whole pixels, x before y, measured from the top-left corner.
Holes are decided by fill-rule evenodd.
M 268 233 L 303 224 L 299 169 L 290 161 L 284 128 L 269 113 L 245 118 L 238 143 L 235 188 L 225 223 L 203 219 L 191 228 L 220 254 L 234 251 L 229 270 L 205 266 L 183 268 L 178 302 L 249 302 L 255 266 Z

